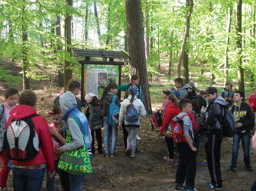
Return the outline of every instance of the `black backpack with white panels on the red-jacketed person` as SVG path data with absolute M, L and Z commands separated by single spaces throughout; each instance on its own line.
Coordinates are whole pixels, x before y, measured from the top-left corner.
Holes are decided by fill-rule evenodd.
M 39 151 L 39 139 L 30 115 L 20 120 L 12 120 L 4 133 L 7 158 L 14 161 L 33 159 Z

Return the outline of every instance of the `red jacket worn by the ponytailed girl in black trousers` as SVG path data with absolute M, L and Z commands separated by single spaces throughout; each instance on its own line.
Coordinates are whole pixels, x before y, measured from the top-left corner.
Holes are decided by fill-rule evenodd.
M 174 124 L 174 121 L 172 120 L 176 115 L 181 113 L 181 110 L 174 106 L 174 103 L 170 103 L 168 107 L 165 109 L 165 115 L 164 115 L 164 120 L 163 124 L 160 129 L 160 135 L 163 135 L 164 129 L 168 125 L 168 123 Z

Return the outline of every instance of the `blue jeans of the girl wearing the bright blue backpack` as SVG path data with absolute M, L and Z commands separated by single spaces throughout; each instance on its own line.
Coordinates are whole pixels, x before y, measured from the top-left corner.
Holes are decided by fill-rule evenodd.
M 106 154 L 115 154 L 116 145 L 117 145 L 117 126 L 111 126 L 108 121 L 107 117 L 104 117 L 104 126 L 105 126 L 105 137 L 104 137 L 104 144 L 106 148 Z M 110 152 L 110 136 L 111 136 L 111 152 Z

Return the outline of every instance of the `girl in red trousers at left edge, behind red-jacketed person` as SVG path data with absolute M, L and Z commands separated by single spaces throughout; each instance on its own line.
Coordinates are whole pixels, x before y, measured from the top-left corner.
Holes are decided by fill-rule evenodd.
M 2 160 L 2 169 L 0 171 L 0 189 L 8 190 L 7 178 L 10 172 L 8 167 L 9 159 L 7 158 L 6 149 L 3 148 L 3 136 L 5 125 L 10 117 L 10 111 L 16 107 L 19 91 L 17 88 L 8 88 L 5 92 L 5 102 L 0 105 L 0 158 Z

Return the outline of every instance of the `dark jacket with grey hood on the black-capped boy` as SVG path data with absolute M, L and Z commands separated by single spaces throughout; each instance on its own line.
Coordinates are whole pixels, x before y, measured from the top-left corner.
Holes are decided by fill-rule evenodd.
M 222 97 L 213 98 L 209 101 L 209 106 L 206 109 L 206 111 L 208 112 L 208 117 L 206 118 L 206 115 L 204 115 L 203 120 L 205 120 L 210 134 L 221 133 L 220 121 L 222 121 L 222 118 L 224 116 L 224 108 L 228 109 L 229 105 Z M 215 118 L 217 118 L 218 120 L 215 120 Z

